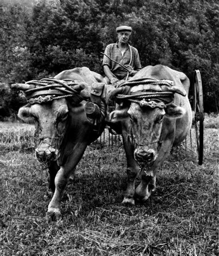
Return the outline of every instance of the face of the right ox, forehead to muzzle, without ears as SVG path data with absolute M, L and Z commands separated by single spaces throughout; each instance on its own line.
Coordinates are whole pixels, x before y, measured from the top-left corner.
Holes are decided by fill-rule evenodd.
M 134 158 L 141 165 L 152 163 L 158 156 L 164 109 L 140 107 L 131 103 L 128 109 L 134 142 Z

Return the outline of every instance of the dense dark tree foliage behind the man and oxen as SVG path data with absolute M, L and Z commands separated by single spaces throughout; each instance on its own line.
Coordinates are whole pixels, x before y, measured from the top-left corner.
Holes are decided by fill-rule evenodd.
M 170 64 L 191 80 L 201 71 L 204 108 L 218 111 L 216 0 L 43 0 L 0 9 L 0 82 L 54 76 L 86 66 L 102 73 L 101 51 L 115 27 L 133 27 L 142 66 Z

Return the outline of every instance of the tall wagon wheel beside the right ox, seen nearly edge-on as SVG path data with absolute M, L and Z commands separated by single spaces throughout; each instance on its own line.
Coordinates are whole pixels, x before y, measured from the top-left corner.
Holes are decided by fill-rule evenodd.
M 201 74 L 199 70 L 195 70 L 193 79 L 193 109 L 194 109 L 194 124 L 195 135 L 197 141 L 197 153 L 199 165 L 202 165 L 203 160 L 203 135 L 204 135 L 204 108 L 203 108 L 203 93 Z

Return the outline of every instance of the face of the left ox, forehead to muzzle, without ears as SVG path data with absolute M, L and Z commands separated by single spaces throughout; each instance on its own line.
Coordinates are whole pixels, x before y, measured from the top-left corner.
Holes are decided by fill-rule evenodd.
M 67 128 L 68 107 L 65 99 L 33 104 L 30 115 L 35 119 L 35 154 L 40 162 L 56 160 Z

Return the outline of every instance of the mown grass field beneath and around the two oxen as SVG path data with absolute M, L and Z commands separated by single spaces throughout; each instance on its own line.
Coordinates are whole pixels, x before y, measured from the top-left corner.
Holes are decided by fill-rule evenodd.
M 186 151 L 177 147 L 165 161 L 145 204 L 121 205 L 122 145 L 90 146 L 63 195 L 63 218 L 49 223 L 51 194 L 34 158 L 34 128 L 0 123 L 0 255 L 218 255 L 218 120 L 205 117 L 203 165 L 193 136 L 192 148 L 188 139 Z

